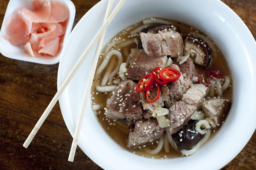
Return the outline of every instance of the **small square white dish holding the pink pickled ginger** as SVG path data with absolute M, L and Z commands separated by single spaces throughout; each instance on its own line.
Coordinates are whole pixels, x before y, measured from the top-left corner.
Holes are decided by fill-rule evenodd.
M 5 40 L 2 35 L 5 31 L 5 21 L 8 16 L 11 15 L 11 13 L 18 7 L 26 7 L 28 9 L 32 9 L 32 1 L 33 0 L 26 0 L 26 1 L 21 1 L 21 0 L 10 0 L 9 4 L 7 6 L 5 15 L 4 15 L 4 20 L 2 23 L 1 31 L 0 31 L 0 52 L 8 58 L 12 59 L 17 59 L 17 60 L 24 60 L 24 61 L 29 61 L 33 63 L 39 63 L 39 64 L 56 64 L 60 61 L 60 56 L 63 51 L 63 46 L 66 43 L 68 36 L 71 32 L 74 19 L 75 19 L 75 14 L 76 14 L 76 8 L 75 5 L 70 1 L 70 0 L 55 0 L 62 2 L 68 6 L 69 9 L 69 19 L 68 19 L 68 25 L 67 29 L 64 35 L 63 39 L 63 46 L 60 47 L 60 50 L 55 57 L 45 57 L 45 56 L 40 56 L 40 57 L 32 57 L 30 56 L 27 52 L 25 52 L 23 45 L 12 45 L 9 41 Z

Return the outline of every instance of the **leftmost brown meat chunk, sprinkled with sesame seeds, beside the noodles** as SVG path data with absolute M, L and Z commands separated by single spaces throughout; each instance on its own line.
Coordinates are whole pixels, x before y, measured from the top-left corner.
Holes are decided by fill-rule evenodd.
M 132 80 L 121 82 L 113 95 L 107 100 L 106 114 L 110 119 L 142 119 L 142 105 L 139 92 L 134 90 L 136 83 Z

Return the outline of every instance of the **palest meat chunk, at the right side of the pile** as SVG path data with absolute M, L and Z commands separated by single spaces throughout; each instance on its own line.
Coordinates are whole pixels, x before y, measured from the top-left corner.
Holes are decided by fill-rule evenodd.
M 203 84 L 194 84 L 182 96 L 182 101 L 200 109 L 200 105 L 203 101 L 206 90 L 207 87 L 205 87 Z

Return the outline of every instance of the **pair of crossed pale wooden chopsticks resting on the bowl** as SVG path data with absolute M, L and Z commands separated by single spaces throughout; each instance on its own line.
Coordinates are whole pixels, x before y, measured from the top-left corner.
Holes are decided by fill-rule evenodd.
M 115 9 L 113 10 L 113 12 L 111 12 L 111 9 L 112 9 L 112 6 L 113 6 L 113 0 L 108 1 L 108 7 L 107 7 L 107 11 L 106 11 L 106 14 L 105 14 L 105 18 L 104 18 L 104 22 L 103 22 L 102 27 L 99 29 L 97 34 L 94 36 L 94 38 L 92 39 L 91 43 L 88 45 L 88 47 L 86 48 L 86 50 L 84 51 L 82 56 L 78 59 L 75 66 L 72 68 L 72 70 L 70 71 L 70 73 L 68 74 L 68 76 L 66 77 L 64 82 L 61 84 L 60 89 L 57 91 L 55 96 L 52 98 L 52 101 L 47 106 L 47 108 L 45 109 L 45 111 L 42 114 L 42 116 L 40 117 L 40 119 L 37 121 L 35 127 L 31 131 L 31 133 L 28 135 L 27 140 L 23 144 L 23 146 L 25 148 L 28 148 L 28 145 L 31 143 L 31 141 L 35 137 L 37 131 L 39 130 L 39 128 L 44 123 L 44 120 L 47 118 L 47 116 L 51 112 L 53 106 L 59 100 L 60 95 L 62 94 L 64 89 L 68 86 L 68 83 L 73 78 L 73 76 L 75 75 L 78 68 L 82 65 L 82 63 L 84 62 L 84 59 L 88 56 L 88 54 L 90 53 L 90 51 L 92 50 L 94 45 L 99 40 L 96 51 L 95 51 L 95 54 L 94 54 L 94 58 L 93 58 L 93 61 L 92 61 L 92 67 L 91 67 L 89 78 L 88 78 L 87 85 L 86 85 L 86 88 L 85 88 L 83 103 L 82 103 L 81 111 L 80 111 L 80 114 L 79 114 L 78 123 L 76 124 L 75 135 L 74 135 L 74 139 L 73 139 L 71 149 L 70 149 L 70 153 L 69 153 L 69 157 L 68 157 L 68 161 L 73 162 L 74 157 L 75 157 L 76 146 L 77 146 L 80 130 L 81 130 L 83 119 L 84 119 L 86 104 L 87 104 L 88 97 L 89 97 L 89 94 L 90 94 L 91 84 L 92 84 L 92 81 L 93 81 L 93 76 L 95 74 L 97 62 L 99 60 L 100 50 L 101 50 L 101 47 L 102 47 L 102 44 L 103 44 L 103 39 L 104 39 L 104 36 L 105 36 L 105 33 L 106 33 L 106 29 L 107 29 L 108 25 L 110 24 L 110 22 L 114 19 L 117 12 L 120 10 L 120 8 L 122 7 L 122 5 L 124 4 L 125 1 L 126 0 L 120 0 L 119 3 L 116 5 Z

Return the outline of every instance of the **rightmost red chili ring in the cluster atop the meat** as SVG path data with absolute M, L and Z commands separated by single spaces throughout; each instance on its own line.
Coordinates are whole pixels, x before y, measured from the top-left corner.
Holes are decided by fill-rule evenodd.
M 179 70 L 171 67 L 163 68 L 159 73 L 160 79 L 167 82 L 173 82 L 178 80 L 180 78 L 180 75 L 181 74 Z

